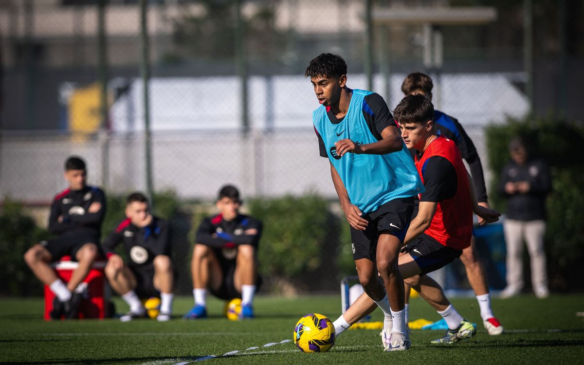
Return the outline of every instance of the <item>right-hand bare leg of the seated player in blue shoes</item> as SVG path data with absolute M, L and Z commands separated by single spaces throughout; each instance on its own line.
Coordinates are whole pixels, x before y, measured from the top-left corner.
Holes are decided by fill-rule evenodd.
M 252 302 L 256 291 L 257 267 L 255 247 L 239 245 L 237 247 L 237 262 L 235 263 L 234 286 L 241 293 L 240 318 L 253 317 Z

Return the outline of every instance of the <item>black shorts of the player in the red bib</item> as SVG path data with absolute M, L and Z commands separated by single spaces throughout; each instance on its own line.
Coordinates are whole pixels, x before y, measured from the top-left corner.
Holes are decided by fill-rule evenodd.
M 422 274 L 431 273 L 460 257 L 462 250 L 440 244 L 427 234 L 421 234 L 413 242 L 402 248 L 408 252 L 422 269 Z

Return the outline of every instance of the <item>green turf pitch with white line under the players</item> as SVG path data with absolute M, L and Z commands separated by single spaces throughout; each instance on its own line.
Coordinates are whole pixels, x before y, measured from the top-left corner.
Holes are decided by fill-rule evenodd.
M 118 312 L 126 305 L 115 298 Z M 176 318 L 159 323 L 141 319 L 121 323 L 117 319 L 43 321 L 40 298 L 0 300 L 0 363 L 23 364 L 174 364 L 200 357 L 231 356 L 201 361 L 234 363 L 349 363 L 387 364 L 392 361 L 416 364 L 581 364 L 584 363 L 584 295 L 533 296 L 493 299 L 493 311 L 508 333 L 489 336 L 482 327 L 475 298 L 452 300 L 463 317 L 478 324 L 477 335 L 455 345 L 430 345 L 443 331 L 415 330 L 407 352 L 385 353 L 379 330 L 356 329 L 343 333 L 327 353 L 301 353 L 293 343 L 263 347 L 266 343 L 291 339 L 294 325 L 304 314 L 319 312 L 333 321 L 340 311 L 340 296 L 281 298 L 258 296 L 257 318 L 231 322 L 223 317 L 222 301 L 209 300 L 210 318 L 183 321 L 192 298 L 175 300 Z M 439 319 L 420 298 L 412 299 L 410 318 Z M 373 320 L 381 320 L 380 311 Z M 550 331 L 557 329 L 559 331 Z M 525 331 L 519 331 L 525 330 Z M 199 361 L 197 361 L 199 362 Z

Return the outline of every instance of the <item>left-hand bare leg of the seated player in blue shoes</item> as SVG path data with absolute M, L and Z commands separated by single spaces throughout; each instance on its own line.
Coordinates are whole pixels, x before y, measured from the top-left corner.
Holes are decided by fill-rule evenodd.
M 206 318 L 207 288 L 220 288 L 223 281 L 223 272 L 213 251 L 202 244 L 194 245 L 190 270 L 193 276 L 194 307 L 183 318 Z

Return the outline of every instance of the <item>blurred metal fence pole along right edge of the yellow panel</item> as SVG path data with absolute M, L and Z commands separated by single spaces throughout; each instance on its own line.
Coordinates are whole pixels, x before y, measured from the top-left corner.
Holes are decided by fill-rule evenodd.
M 98 53 L 100 93 L 100 130 L 99 141 L 102 151 L 102 187 L 107 189 L 109 183 L 109 135 L 107 132 L 107 45 L 105 30 L 105 0 L 98 3 Z M 77 12 L 77 9 L 76 9 Z

